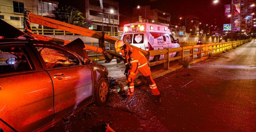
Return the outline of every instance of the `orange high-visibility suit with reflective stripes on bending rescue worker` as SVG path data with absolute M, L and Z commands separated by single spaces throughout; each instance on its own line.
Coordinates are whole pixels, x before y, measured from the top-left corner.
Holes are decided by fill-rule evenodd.
M 151 77 L 150 67 L 148 66 L 148 60 L 141 53 L 141 51 L 134 49 L 133 47 L 126 46 L 127 53 L 123 54 L 126 57 L 127 62 L 125 66 L 130 66 L 128 77 L 127 77 L 127 85 L 128 85 L 128 94 L 133 94 L 134 92 L 134 79 L 138 72 L 141 72 L 145 77 L 147 82 L 149 83 L 151 92 L 153 95 L 160 95 L 160 92 L 157 89 L 157 85 L 155 81 Z

